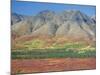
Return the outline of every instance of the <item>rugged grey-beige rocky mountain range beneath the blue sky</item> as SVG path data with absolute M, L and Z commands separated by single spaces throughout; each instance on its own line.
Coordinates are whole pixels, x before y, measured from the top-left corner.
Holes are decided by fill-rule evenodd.
M 87 16 L 77 10 L 65 10 L 60 13 L 44 10 L 31 17 L 13 13 L 11 17 L 14 35 L 95 39 L 95 17 Z

